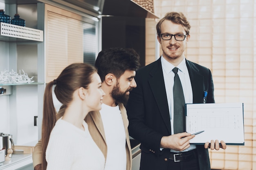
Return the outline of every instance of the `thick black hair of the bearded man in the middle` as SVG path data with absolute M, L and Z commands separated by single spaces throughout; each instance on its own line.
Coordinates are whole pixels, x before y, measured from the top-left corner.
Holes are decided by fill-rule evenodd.
M 109 73 L 120 78 L 126 70 L 139 69 L 139 54 L 131 48 L 108 48 L 99 52 L 95 61 L 95 67 L 101 81 L 105 80 L 105 76 Z

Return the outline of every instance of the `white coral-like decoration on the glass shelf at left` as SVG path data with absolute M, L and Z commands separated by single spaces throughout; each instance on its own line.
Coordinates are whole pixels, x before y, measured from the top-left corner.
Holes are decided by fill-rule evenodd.
M 0 84 L 17 84 L 17 83 L 33 83 L 32 78 L 22 70 L 23 74 L 18 74 L 13 70 L 9 72 L 9 70 L 1 71 L 0 73 Z

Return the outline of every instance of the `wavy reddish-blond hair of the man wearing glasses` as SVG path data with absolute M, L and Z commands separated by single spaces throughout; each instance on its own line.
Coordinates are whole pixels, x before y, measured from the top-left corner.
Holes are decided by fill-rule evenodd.
M 164 22 L 164 20 L 170 20 L 175 24 L 181 24 L 186 31 L 186 35 L 189 35 L 191 25 L 189 24 L 189 21 L 186 19 L 186 16 L 182 12 L 169 12 L 166 13 L 164 17 L 157 23 L 156 29 L 158 37 L 161 36 L 161 25 Z

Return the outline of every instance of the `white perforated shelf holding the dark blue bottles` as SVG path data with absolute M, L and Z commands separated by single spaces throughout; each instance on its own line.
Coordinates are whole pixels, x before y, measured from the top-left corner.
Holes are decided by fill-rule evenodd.
M 0 41 L 41 41 L 43 42 L 43 31 L 0 22 Z

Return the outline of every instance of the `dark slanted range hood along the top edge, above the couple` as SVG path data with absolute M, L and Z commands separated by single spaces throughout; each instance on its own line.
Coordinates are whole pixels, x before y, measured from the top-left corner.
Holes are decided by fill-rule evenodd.
M 45 1 L 45 0 L 40 0 Z M 122 17 L 158 18 L 154 13 L 141 7 L 132 0 L 50 0 L 58 4 L 72 7 L 84 12 L 90 11 L 96 15 L 110 15 Z

